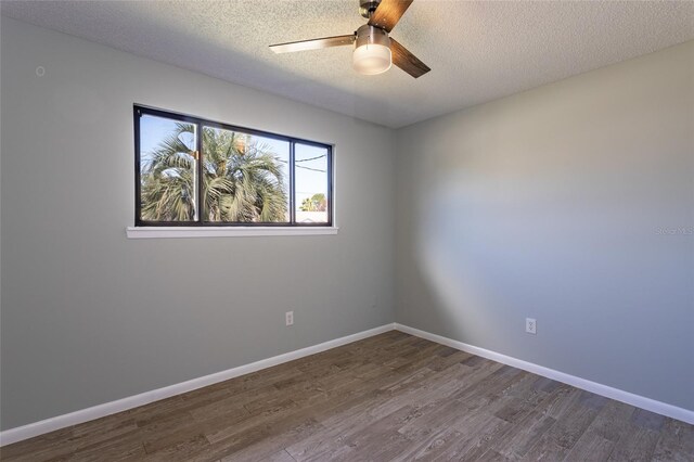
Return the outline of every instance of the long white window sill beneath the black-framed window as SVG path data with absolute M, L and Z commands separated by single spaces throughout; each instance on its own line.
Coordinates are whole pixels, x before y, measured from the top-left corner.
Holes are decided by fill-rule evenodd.
M 260 235 L 337 234 L 336 227 L 128 227 L 128 239 L 248 238 Z

